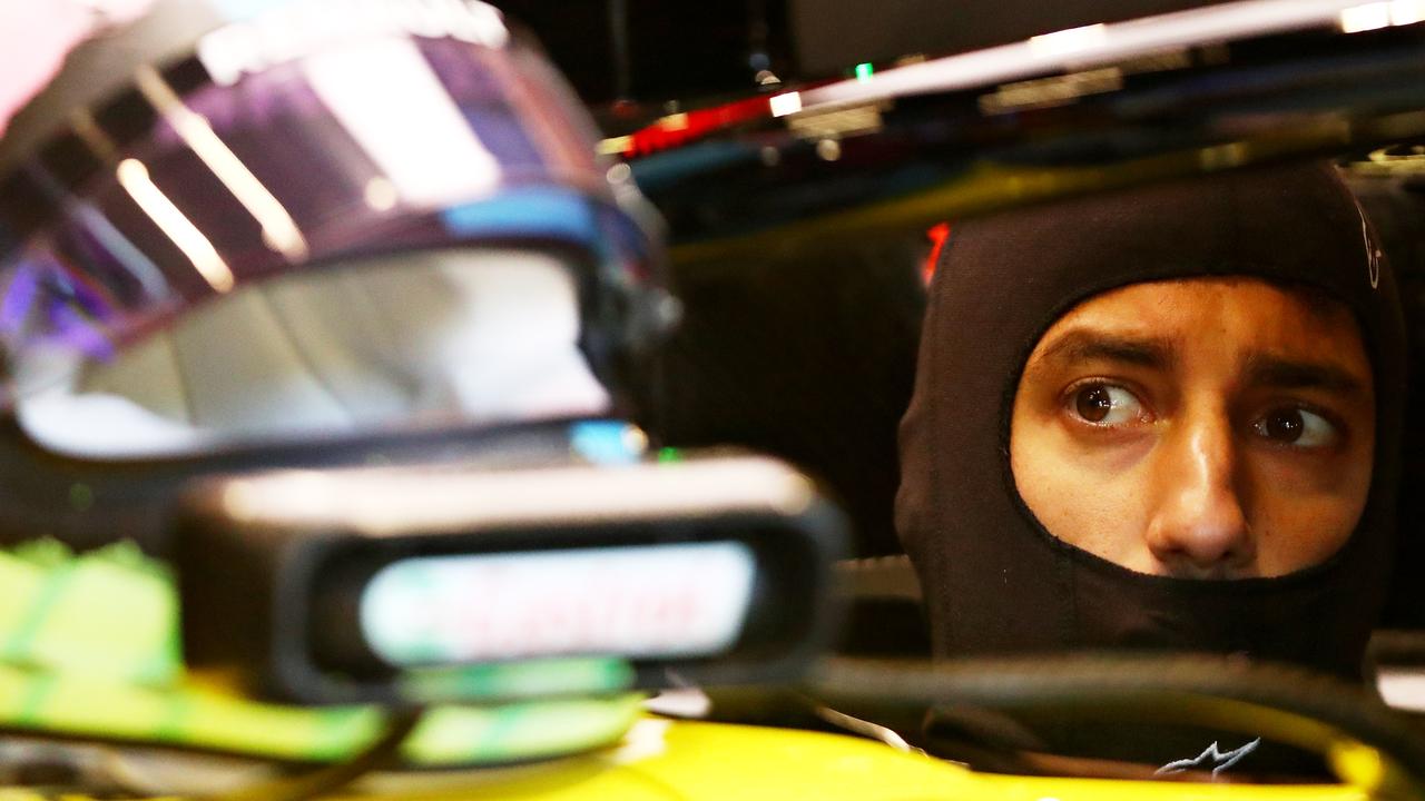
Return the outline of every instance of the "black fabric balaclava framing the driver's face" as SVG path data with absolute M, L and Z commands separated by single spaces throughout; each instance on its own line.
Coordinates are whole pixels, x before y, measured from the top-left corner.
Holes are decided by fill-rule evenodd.
M 1273 579 L 1147 576 L 1057 540 L 1015 489 L 1010 413 L 1045 331 L 1107 289 L 1211 275 L 1317 286 L 1361 326 L 1377 398 L 1372 483 L 1351 539 L 1324 564 Z M 1404 342 L 1394 278 L 1330 165 L 956 225 L 931 288 L 896 497 L 936 654 L 1247 653 L 1359 680 L 1391 573 Z

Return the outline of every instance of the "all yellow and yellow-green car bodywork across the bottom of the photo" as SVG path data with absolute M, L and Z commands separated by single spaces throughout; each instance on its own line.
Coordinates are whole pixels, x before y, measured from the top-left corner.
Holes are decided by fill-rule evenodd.
M 386 725 L 373 707 L 261 704 L 188 674 L 178 658 L 171 576 L 131 546 L 74 556 L 53 542 L 0 552 L 0 728 L 252 760 L 343 763 Z M 1330 753 L 1351 785 L 1264 787 L 1023 778 L 969 771 L 851 735 L 674 721 L 637 696 L 432 710 L 402 748 L 408 764 L 524 767 L 369 775 L 351 800 L 527 801 L 1361 801 L 1406 797 L 1381 754 L 1342 741 Z M 620 738 L 621 735 L 621 738 Z M 600 744 L 611 747 L 594 750 Z M 573 757 L 533 761 L 556 754 Z M 1402 787 L 1395 795 L 1375 787 Z M 261 781 L 231 798 L 271 798 Z M 40 795 L 0 787 L 0 801 Z M 78 797 L 74 797 L 78 798 Z

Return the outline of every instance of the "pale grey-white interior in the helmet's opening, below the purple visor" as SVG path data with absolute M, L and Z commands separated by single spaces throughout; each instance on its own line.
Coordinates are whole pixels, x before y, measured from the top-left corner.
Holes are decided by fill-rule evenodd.
M 239 286 L 16 412 L 40 446 L 93 459 L 601 415 L 579 339 L 559 257 L 410 252 Z

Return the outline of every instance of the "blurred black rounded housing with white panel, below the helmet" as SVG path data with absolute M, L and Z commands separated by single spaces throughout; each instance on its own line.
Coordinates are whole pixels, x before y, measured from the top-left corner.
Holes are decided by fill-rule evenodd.
M 487 703 L 794 683 L 846 539 L 767 458 L 289 470 L 198 487 L 175 566 L 188 663 L 249 691 Z

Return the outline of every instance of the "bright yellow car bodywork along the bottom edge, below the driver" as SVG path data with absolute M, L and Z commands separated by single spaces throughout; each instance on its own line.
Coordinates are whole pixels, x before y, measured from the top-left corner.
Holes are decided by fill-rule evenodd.
M 388 775 L 343 798 L 456 801 L 1361 801 L 1348 785 L 1026 778 L 969 771 L 849 735 L 646 718 L 616 750 L 543 765 Z

